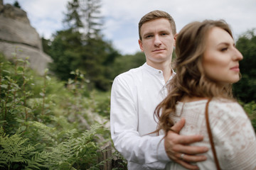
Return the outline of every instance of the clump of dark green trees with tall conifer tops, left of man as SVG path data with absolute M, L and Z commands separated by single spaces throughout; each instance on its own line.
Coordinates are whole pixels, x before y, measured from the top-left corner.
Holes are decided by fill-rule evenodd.
M 53 57 L 51 71 L 67 80 L 72 77 L 71 71 L 79 69 L 90 80 L 89 89 L 106 91 L 113 79 L 112 62 L 119 52 L 100 33 L 100 0 L 72 0 L 67 8 L 63 20 L 65 30 L 58 31 L 53 42 L 43 42 L 46 47 L 51 44 L 48 50 Z

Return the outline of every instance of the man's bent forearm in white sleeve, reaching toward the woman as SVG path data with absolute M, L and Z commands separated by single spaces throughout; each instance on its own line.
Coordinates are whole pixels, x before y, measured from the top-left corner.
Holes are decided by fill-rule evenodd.
M 162 138 L 163 136 L 140 137 L 137 132 L 131 131 L 112 135 L 114 146 L 125 159 L 150 169 L 164 169 L 170 161 Z

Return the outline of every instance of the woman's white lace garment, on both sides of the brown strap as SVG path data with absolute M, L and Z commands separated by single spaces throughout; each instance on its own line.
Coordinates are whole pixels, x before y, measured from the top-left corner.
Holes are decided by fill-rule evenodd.
M 188 103 L 178 102 L 176 115 L 171 117 L 175 122 L 181 118 L 186 124 L 181 135 L 203 135 L 203 141 L 193 145 L 210 148 L 210 141 L 206 128 L 205 108 L 207 100 Z M 251 170 L 256 169 L 256 138 L 250 119 L 242 107 L 233 101 L 214 99 L 209 108 L 210 128 L 221 169 Z M 210 149 L 205 162 L 196 163 L 200 169 L 216 169 L 213 152 Z M 185 169 L 183 166 L 171 162 L 166 169 Z

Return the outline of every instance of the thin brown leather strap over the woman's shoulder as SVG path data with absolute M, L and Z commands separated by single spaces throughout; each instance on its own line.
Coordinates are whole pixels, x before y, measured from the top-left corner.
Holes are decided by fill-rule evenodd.
M 214 143 L 213 143 L 213 135 L 210 131 L 210 123 L 209 123 L 209 116 L 208 116 L 209 103 L 210 103 L 210 99 L 206 103 L 206 126 L 207 126 L 207 131 L 208 131 L 208 135 L 209 135 L 209 139 L 210 139 L 210 146 L 213 150 L 213 157 L 214 157 L 215 165 L 216 165 L 217 169 L 220 170 L 220 164 L 218 163 L 218 158 L 217 158 L 217 154 L 216 154 Z

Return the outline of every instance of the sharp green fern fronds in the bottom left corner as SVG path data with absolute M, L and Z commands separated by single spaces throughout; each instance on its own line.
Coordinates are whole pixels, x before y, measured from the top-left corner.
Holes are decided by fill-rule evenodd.
M 77 137 L 76 130 L 52 135 L 51 132 L 55 131 L 53 128 L 38 122 L 29 124 L 35 131 L 34 134 L 43 137 L 41 142 L 53 146 L 44 147 L 42 150 L 42 147 L 38 146 L 39 143 L 32 146 L 31 142 L 28 142 L 29 138 L 21 137 L 21 133 L 9 136 L 4 134 L 1 128 L 0 166 L 4 169 L 88 169 L 97 165 L 100 147 L 94 141 L 97 134 L 104 132 L 101 125 L 92 125 L 91 130 L 86 130 Z M 61 142 L 58 142 L 60 139 Z

